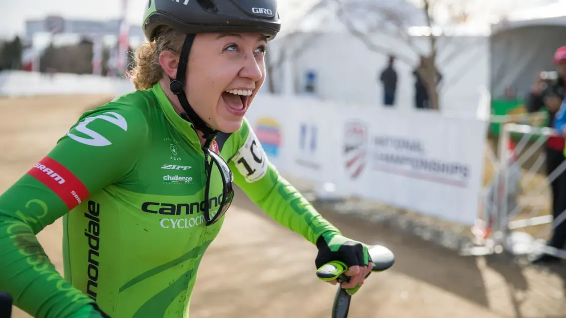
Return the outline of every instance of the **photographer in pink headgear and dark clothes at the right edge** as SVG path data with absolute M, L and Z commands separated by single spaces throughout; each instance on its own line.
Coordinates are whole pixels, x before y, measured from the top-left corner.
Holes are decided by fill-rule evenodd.
M 527 95 L 525 108 L 529 113 L 534 113 L 546 109 L 548 112 L 548 127 L 555 127 L 557 114 L 560 105 L 564 100 L 566 90 L 566 46 L 556 50 L 553 62 L 558 68 L 558 77 L 555 80 L 545 83 L 543 76 L 539 74 L 533 89 Z M 545 73 L 546 74 L 546 73 Z M 560 125 L 559 125 L 560 126 Z M 560 126 L 556 136 L 548 137 L 545 145 L 546 151 L 546 173 L 551 174 L 562 162 L 564 162 L 564 138 L 563 128 Z M 566 173 L 561 172 L 558 177 L 551 182 L 552 190 L 552 216 L 558 218 L 566 209 Z M 564 249 L 566 244 L 566 222 L 556 226 L 554 234 L 548 245 L 554 248 Z M 533 260 L 534 264 L 558 263 L 558 257 L 542 254 Z

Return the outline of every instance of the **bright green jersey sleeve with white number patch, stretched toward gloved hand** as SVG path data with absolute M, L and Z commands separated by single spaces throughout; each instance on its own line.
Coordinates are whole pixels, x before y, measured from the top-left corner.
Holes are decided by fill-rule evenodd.
M 234 149 L 238 149 L 229 162 L 234 182 L 254 203 L 313 244 L 327 231 L 340 233 L 278 173 L 247 121 L 232 137 Z

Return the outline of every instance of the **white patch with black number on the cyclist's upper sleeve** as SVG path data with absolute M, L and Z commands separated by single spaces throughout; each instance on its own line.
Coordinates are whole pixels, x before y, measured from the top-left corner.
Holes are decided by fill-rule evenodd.
M 258 137 L 252 130 L 250 130 L 246 142 L 232 158 L 232 161 L 247 182 L 258 181 L 267 173 L 267 154 L 261 148 Z

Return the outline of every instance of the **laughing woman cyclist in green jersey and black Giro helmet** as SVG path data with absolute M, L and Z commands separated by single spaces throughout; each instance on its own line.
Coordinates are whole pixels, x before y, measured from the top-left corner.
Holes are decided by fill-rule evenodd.
M 0 290 L 35 317 L 187 317 L 232 182 L 316 244 L 317 267 L 346 263 L 342 287 L 361 285 L 367 248 L 277 173 L 244 118 L 280 29 L 276 1 L 149 0 L 146 8 L 136 91 L 84 113 L 0 196 Z M 65 278 L 35 237 L 62 216 Z

